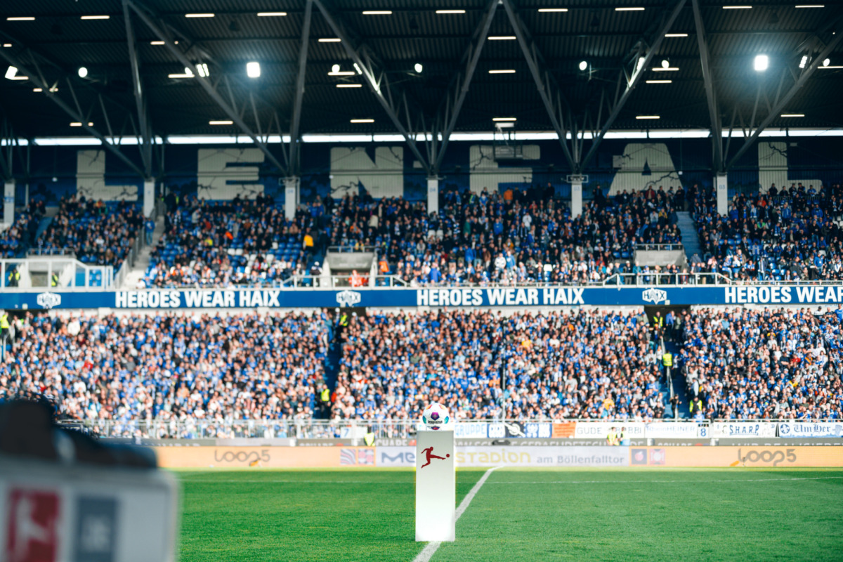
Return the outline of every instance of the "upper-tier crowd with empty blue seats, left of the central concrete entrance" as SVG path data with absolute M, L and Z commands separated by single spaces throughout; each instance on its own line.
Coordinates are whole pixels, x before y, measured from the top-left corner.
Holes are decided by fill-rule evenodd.
M 271 197 L 171 198 L 145 286 L 279 286 L 314 257 L 310 209 L 293 220 Z

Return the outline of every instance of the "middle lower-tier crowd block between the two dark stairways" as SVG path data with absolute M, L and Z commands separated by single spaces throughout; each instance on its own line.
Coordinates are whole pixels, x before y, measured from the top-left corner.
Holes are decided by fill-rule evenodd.
M 642 313 L 374 313 L 339 334 L 333 417 L 651 420 L 664 413 Z

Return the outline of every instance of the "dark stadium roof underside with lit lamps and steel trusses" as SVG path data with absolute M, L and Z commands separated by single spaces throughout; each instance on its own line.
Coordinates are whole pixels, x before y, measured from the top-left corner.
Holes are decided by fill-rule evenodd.
M 87 123 L 71 126 L 80 120 L 104 136 L 142 135 L 139 107 L 155 136 L 241 134 L 244 126 L 259 138 L 289 134 L 297 114 L 298 136 L 492 131 L 492 117 L 516 118 L 518 131 L 594 133 L 709 128 L 711 115 L 724 130 L 843 123 L 835 35 L 843 37 L 843 6 L 824 0 L 31 0 L 6 8 L 0 56 L 20 67 L 11 78 L 30 79 L 0 80 L 0 109 L 27 138 L 86 134 Z M 196 14 L 213 17 L 189 17 Z M 764 72 L 754 70 L 757 55 L 769 57 Z M 178 78 L 185 61 L 194 76 Z M 260 78 L 247 76 L 247 62 L 260 63 Z M 206 71 L 207 80 L 195 75 Z M 576 143 L 570 152 L 582 163 Z M 436 154 L 424 156 L 432 163 Z

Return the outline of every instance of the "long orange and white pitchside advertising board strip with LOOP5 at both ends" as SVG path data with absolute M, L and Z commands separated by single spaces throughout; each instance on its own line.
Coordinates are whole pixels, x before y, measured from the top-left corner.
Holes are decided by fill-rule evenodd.
M 413 467 L 416 447 L 153 447 L 164 468 Z M 843 467 L 843 447 L 457 447 L 461 467 Z

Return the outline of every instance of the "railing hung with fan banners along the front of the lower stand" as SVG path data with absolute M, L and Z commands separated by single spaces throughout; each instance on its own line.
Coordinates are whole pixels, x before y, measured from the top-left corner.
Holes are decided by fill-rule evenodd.
M 417 420 L 81 420 L 103 437 L 144 439 L 343 439 L 362 442 L 371 431 L 376 439 L 415 435 Z M 623 428 L 629 439 L 843 438 L 843 421 L 593 421 L 500 420 L 468 421 L 454 426 L 457 439 L 591 439 L 604 440 L 609 430 Z

